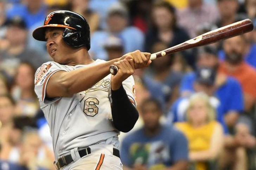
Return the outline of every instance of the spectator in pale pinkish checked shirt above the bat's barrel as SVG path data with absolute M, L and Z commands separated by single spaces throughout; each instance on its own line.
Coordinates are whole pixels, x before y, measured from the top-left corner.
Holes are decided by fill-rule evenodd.
M 208 5 L 204 0 L 188 0 L 188 7 L 178 10 L 177 22 L 188 31 L 190 37 L 196 37 L 201 24 L 213 24 L 218 18 L 215 5 Z

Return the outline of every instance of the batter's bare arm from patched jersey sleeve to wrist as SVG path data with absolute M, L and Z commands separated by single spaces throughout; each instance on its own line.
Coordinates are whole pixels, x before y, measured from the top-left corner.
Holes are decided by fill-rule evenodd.
M 59 78 L 58 84 L 64 88 L 64 93 L 67 95 L 87 90 L 107 76 L 109 66 L 116 61 L 118 59 L 66 72 Z

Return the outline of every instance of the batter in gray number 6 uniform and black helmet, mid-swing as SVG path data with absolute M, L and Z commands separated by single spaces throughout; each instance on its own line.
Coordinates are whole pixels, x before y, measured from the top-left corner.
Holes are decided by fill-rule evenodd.
M 150 54 L 137 50 L 94 61 L 88 22 L 66 10 L 47 15 L 33 37 L 46 41 L 53 59 L 38 68 L 35 91 L 50 126 L 56 168 L 122 169 L 118 135 L 138 118 L 132 74 L 151 63 Z M 115 76 L 109 74 L 111 64 L 119 68 Z

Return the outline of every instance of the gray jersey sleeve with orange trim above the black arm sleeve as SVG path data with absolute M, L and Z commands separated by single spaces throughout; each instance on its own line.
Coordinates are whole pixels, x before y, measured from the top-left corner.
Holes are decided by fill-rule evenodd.
M 135 83 L 133 76 L 128 77 L 126 80 L 123 81 L 123 88 L 126 91 L 126 94 L 133 105 L 136 107 L 135 101 Z

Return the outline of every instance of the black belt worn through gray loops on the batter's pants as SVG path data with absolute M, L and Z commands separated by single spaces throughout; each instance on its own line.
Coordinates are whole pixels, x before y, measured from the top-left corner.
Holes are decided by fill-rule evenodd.
M 80 157 L 83 157 L 83 156 L 88 155 L 88 154 L 91 153 L 91 148 L 88 147 L 88 148 L 85 148 L 85 149 L 82 149 L 82 150 L 78 150 L 78 153 L 79 153 Z M 113 148 L 113 155 L 120 158 L 119 150 Z M 69 155 L 59 157 L 57 162 L 54 161 L 54 164 L 55 164 L 56 169 L 59 170 L 59 169 L 65 167 L 66 165 L 68 165 L 70 163 L 73 163 L 73 162 L 74 162 L 74 160 L 73 160 L 71 154 L 69 154 Z

